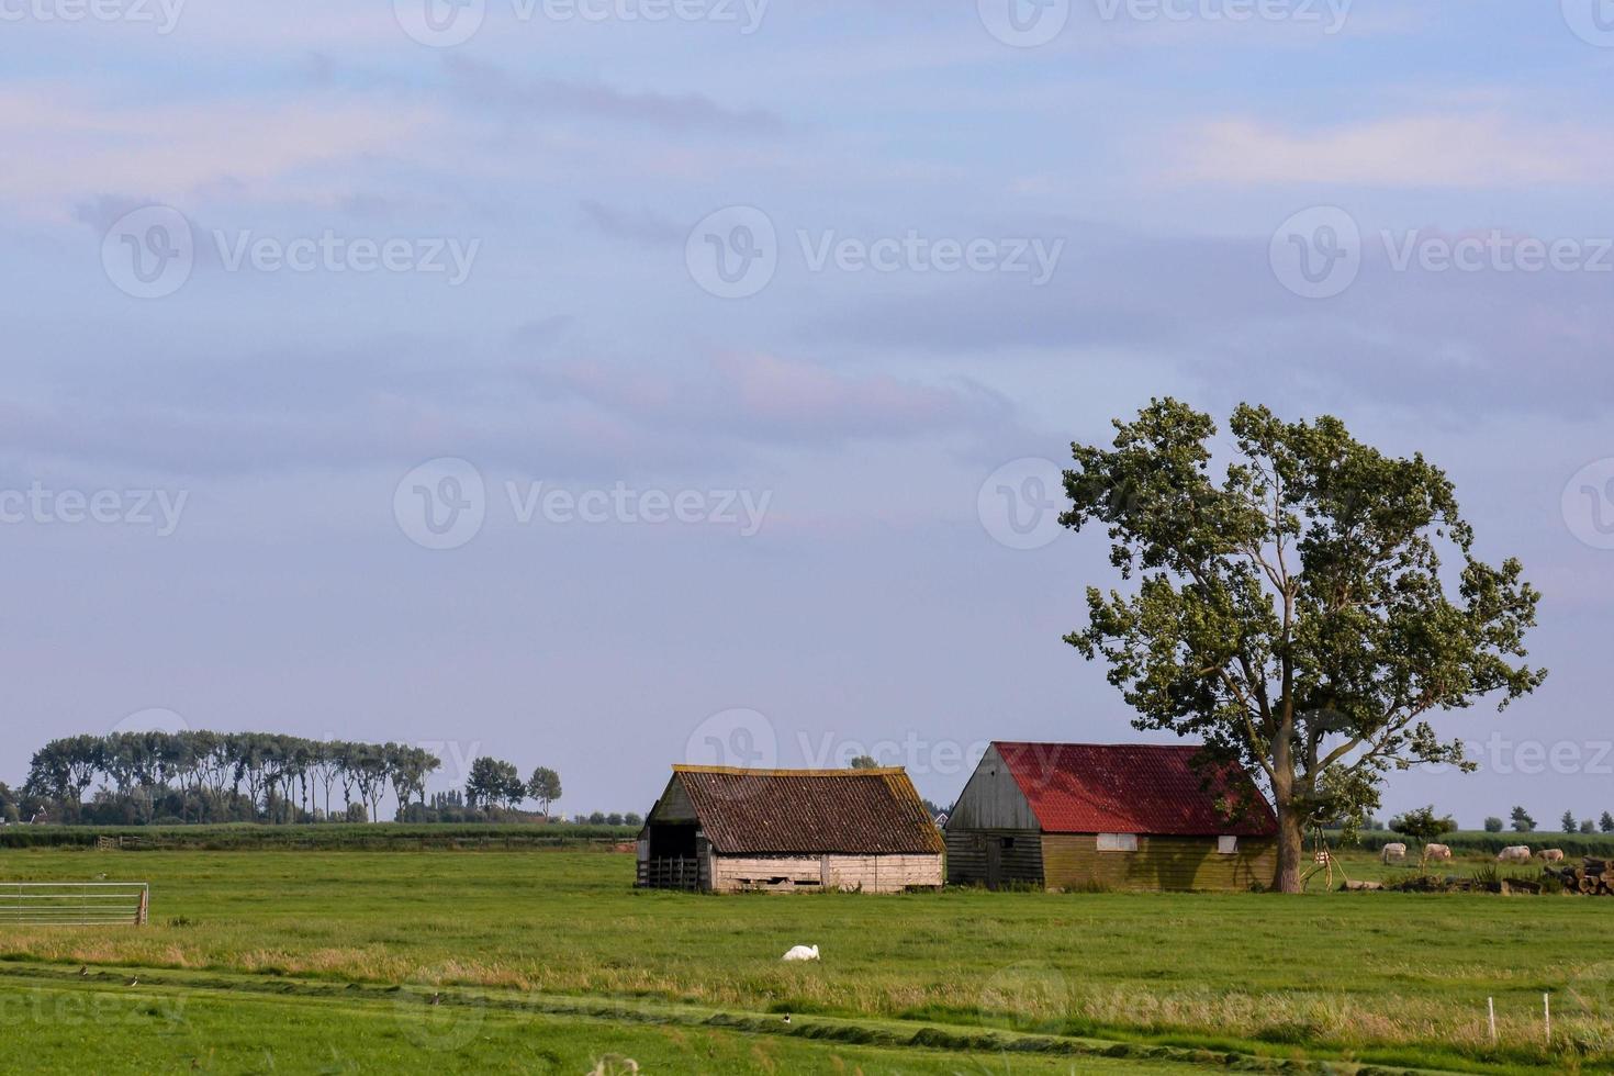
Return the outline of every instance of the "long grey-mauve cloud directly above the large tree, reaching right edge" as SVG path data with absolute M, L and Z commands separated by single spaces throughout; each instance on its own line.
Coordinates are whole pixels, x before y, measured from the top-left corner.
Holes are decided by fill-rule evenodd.
M 820 303 L 799 334 L 818 347 L 949 363 L 1030 353 L 1102 379 L 1122 376 L 1114 363 L 1123 355 L 1138 376 L 1186 374 L 1212 392 L 1259 384 L 1301 402 L 1320 395 L 1462 421 L 1587 419 L 1614 405 L 1608 271 L 1398 271 L 1383 229 L 1361 226 L 1361 276 L 1325 302 L 1283 289 L 1267 263 L 1269 236 L 1070 224 L 1062 234 L 1080 256 L 1067 256 L 1047 287 L 978 276 L 920 294 L 852 292 Z M 1398 231 L 1391 239 L 1406 242 Z

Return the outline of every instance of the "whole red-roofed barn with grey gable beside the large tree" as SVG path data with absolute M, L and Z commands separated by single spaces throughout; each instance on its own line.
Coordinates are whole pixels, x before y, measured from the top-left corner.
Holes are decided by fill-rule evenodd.
M 994 742 L 946 826 L 947 881 L 1044 889 L 1270 886 L 1277 820 L 1199 747 Z

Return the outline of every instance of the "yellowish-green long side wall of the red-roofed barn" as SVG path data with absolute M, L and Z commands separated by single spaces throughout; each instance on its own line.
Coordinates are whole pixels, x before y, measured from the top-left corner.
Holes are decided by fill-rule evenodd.
M 1240 837 L 1238 852 L 1222 855 L 1215 837 L 1138 837 L 1136 852 L 1099 852 L 1096 834 L 1044 834 L 1043 865 L 1049 889 L 1209 889 L 1270 886 L 1278 870 L 1277 842 Z

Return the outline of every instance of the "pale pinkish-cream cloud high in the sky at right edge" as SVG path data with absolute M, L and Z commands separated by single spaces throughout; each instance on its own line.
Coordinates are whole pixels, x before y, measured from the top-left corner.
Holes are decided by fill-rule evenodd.
M 1491 189 L 1587 186 L 1614 166 L 1609 134 L 1499 113 L 1432 113 L 1283 131 L 1251 118 L 1186 132 L 1181 184 Z

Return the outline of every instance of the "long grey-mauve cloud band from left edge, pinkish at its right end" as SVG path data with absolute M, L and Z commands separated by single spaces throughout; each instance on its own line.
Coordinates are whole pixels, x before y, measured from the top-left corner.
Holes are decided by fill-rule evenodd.
M 805 360 L 547 360 L 570 319 L 521 326 L 525 352 L 442 366 L 423 340 L 339 352 L 39 355 L 0 390 L 0 453 L 178 474 L 284 473 L 463 455 L 547 474 L 723 466 L 762 447 L 980 432 L 1010 408 L 973 386 L 857 376 Z M 23 376 L 29 374 L 29 376 Z

